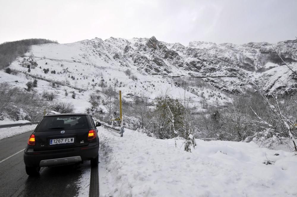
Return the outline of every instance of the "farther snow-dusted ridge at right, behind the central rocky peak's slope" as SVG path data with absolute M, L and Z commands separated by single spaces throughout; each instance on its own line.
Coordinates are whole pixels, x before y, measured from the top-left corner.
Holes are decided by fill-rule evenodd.
M 288 62 L 295 61 L 293 54 L 297 53 L 297 40 L 281 41 L 274 45 L 277 52 Z M 244 45 L 235 45 L 232 43 L 222 43 L 217 45 L 212 42 L 190 42 L 189 47 L 195 49 L 198 53 L 211 54 L 209 58 L 217 58 L 220 61 L 228 62 L 239 68 L 248 71 L 265 71 L 266 64 L 280 65 L 281 59 L 274 52 L 268 42 L 249 42 Z M 275 65 L 274 65 L 275 66 Z

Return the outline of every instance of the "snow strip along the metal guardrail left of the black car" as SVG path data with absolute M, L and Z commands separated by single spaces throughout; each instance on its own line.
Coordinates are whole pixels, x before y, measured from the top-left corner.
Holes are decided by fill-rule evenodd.
M 12 121 L 8 119 L 4 119 L 0 121 L 0 125 L 5 124 L 13 124 L 13 123 L 29 123 L 28 120 L 18 120 L 18 121 Z M 15 135 L 19 135 L 22 133 L 26 133 L 29 131 L 33 131 L 35 129 L 36 125 L 26 125 L 21 127 L 10 127 L 10 128 L 0 128 L 0 139 L 4 139 L 7 137 L 12 137 Z

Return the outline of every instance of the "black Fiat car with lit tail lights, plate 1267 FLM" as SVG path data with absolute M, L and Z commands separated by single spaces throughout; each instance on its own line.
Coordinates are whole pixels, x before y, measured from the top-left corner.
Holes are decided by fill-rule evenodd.
M 59 166 L 91 160 L 98 165 L 99 137 L 89 114 L 45 115 L 28 140 L 24 162 L 28 175 L 40 167 Z

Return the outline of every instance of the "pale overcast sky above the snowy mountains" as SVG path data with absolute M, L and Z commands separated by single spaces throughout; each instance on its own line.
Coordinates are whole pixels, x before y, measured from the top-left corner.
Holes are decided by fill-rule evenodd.
M 187 46 L 194 40 L 276 43 L 297 36 L 297 0 L 0 0 L 0 7 L 0 43 L 155 36 Z

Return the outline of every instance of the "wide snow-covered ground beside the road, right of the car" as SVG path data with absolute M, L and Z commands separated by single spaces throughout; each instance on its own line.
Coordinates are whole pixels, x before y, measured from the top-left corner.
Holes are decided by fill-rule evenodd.
M 254 143 L 197 140 L 192 152 L 174 139 L 125 129 L 99 129 L 107 154 L 99 169 L 100 196 L 296 196 L 297 157 Z M 279 155 L 274 155 L 278 153 Z M 275 165 L 265 165 L 267 158 Z

